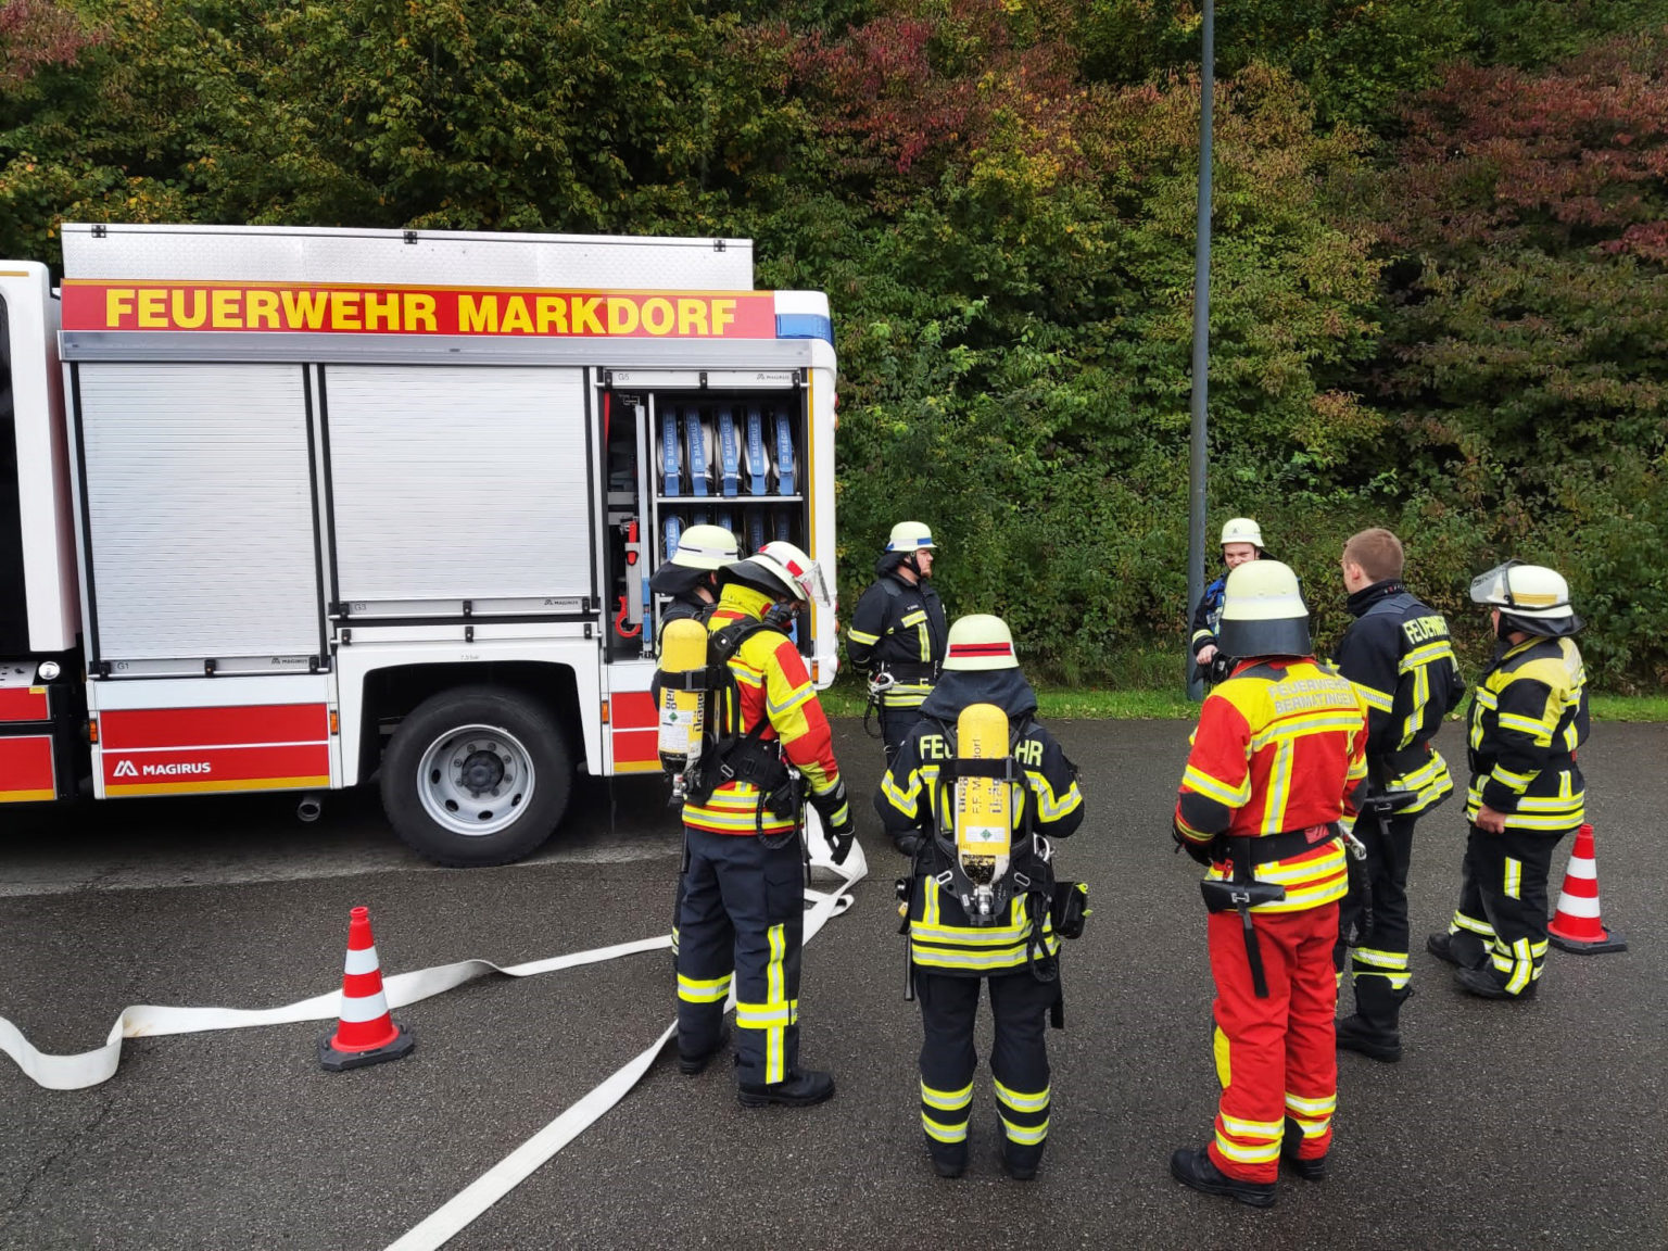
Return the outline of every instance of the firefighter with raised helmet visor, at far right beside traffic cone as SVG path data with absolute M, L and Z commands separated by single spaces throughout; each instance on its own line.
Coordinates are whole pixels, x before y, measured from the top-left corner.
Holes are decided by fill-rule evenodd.
M 1490 605 L 1495 662 L 1471 694 L 1471 824 L 1460 907 L 1426 947 L 1471 994 L 1530 999 L 1546 962 L 1546 874 L 1558 841 L 1585 817 L 1576 749 L 1586 739 L 1583 622 L 1570 584 L 1543 565 L 1508 560 L 1471 582 Z

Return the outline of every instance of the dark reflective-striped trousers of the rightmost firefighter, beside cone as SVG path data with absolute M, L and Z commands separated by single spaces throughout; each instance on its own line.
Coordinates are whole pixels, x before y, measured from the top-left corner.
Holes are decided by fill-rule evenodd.
M 1523 994 L 1540 981 L 1546 964 L 1546 877 L 1568 832 L 1490 834 L 1471 826 L 1466 839 L 1460 907 L 1448 932 L 1454 936 L 1456 954 L 1470 957 L 1465 962 L 1491 966 L 1511 994 Z

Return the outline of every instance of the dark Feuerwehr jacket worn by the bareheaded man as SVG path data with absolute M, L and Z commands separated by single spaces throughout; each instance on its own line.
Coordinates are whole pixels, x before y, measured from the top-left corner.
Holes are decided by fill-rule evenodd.
M 1354 592 L 1349 612 L 1354 620 L 1334 662 L 1366 704 L 1368 776 L 1384 791 L 1418 791 L 1401 816 L 1424 812 L 1454 789 L 1448 762 L 1431 747 L 1465 696 L 1448 620 L 1399 579 Z

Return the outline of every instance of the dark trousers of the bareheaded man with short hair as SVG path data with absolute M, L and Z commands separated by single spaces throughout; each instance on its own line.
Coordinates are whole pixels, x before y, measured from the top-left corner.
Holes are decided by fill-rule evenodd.
M 1359 876 L 1349 876 L 1349 894 L 1338 909 L 1334 967 L 1348 961 L 1356 1012 L 1394 1029 L 1408 991 L 1408 866 L 1413 861 L 1413 826 L 1418 817 L 1391 817 L 1388 836 L 1376 821 L 1358 821 L 1354 834 L 1366 847 Z M 1364 926 L 1363 926 L 1364 921 Z M 1344 939 L 1358 929 L 1354 947 Z

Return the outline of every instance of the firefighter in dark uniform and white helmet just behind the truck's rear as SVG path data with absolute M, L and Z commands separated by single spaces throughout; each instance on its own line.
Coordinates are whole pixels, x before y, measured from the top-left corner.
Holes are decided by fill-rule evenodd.
M 846 632 L 846 654 L 869 676 L 887 762 L 944 662 L 944 605 L 931 582 L 936 550 L 924 524 L 897 522 Z

